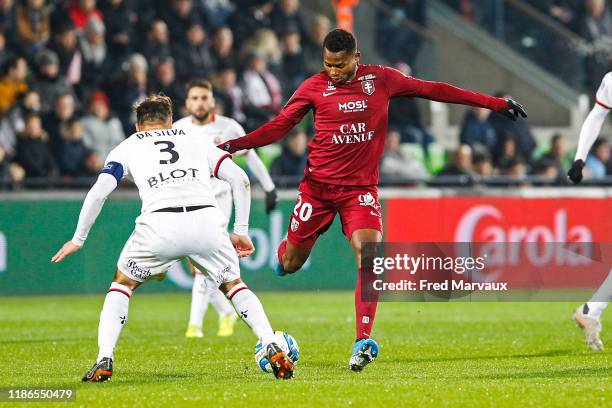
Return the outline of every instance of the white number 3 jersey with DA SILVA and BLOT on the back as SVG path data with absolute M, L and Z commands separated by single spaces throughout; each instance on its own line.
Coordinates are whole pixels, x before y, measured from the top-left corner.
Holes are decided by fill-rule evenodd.
M 211 175 L 231 157 L 204 138 L 183 129 L 142 131 L 121 142 L 108 155 L 105 169 L 138 187 L 142 211 L 215 205 Z

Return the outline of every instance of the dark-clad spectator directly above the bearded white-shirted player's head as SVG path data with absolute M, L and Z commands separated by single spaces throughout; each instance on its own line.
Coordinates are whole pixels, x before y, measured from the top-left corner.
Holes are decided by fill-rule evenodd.
M 205 78 L 213 69 L 213 60 L 206 45 L 206 33 L 200 24 L 187 30 L 187 40 L 177 44 L 173 51 L 178 76 L 187 81 L 193 77 Z

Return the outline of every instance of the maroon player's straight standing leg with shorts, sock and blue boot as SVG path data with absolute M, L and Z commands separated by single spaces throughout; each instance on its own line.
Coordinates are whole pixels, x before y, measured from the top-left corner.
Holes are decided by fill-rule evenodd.
M 364 295 L 363 281 L 367 271 L 362 270 L 362 249 L 367 243 L 382 241 L 381 207 L 375 187 L 355 188 L 344 191 L 337 201 L 342 231 L 350 240 L 357 263 L 357 284 L 355 286 L 355 343 L 349 360 L 349 368 L 361 371 L 378 355 L 378 345 L 370 338 L 376 309 L 377 293 Z

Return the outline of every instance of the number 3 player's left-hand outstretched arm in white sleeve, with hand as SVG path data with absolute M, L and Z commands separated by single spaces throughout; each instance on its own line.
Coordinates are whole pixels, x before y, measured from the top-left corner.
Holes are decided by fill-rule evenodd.
M 51 258 L 51 262 L 61 262 L 62 259 L 68 255 L 71 255 L 81 249 L 85 243 L 85 240 L 87 239 L 87 235 L 89 234 L 91 227 L 102 210 L 102 206 L 104 205 L 106 198 L 116 187 L 117 179 L 115 176 L 108 173 L 102 173 L 98 176 L 98 180 L 91 187 L 87 193 L 87 196 L 85 197 L 83 208 L 81 208 L 81 213 L 79 214 L 79 222 L 77 223 L 77 228 L 72 240 L 66 242 L 62 248 L 57 251 L 57 253 Z

